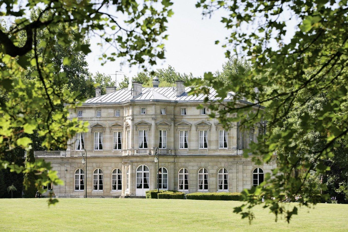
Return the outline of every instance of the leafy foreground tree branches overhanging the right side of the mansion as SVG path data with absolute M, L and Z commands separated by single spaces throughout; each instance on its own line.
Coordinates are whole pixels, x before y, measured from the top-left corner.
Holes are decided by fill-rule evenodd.
M 219 9 L 229 11 L 221 20 L 231 30 L 222 43 L 227 48 L 226 57 L 231 50 L 245 55 L 251 70 L 238 75 L 231 73 L 228 84 L 216 80 L 211 72 L 205 73 L 204 80 L 188 83 L 195 85 L 191 94 L 209 94 L 208 88 L 198 87 L 203 83 L 213 87 L 222 99 L 228 92 L 237 93 L 235 101 L 227 103 L 224 111 L 237 116 L 227 118 L 226 114 L 220 114 L 220 122 L 240 122 L 246 127 L 266 123 L 267 133 L 259 136 L 260 142 L 252 144 L 244 156 L 251 153 L 253 161 L 261 164 L 277 155 L 275 178 L 266 175 L 261 185 L 243 191 L 245 202 L 234 212 L 252 220 L 252 208 L 261 203 L 264 195 L 265 207 L 276 216 L 286 214 L 289 222 L 297 214 L 298 206 L 285 209 L 278 203 L 280 192 L 288 191 L 292 198 L 307 194 L 313 203 L 319 202 L 304 185 L 306 179 L 311 172 L 317 176 L 329 173 L 335 165 L 332 162 L 337 155 L 335 150 L 348 153 L 345 145 L 348 139 L 347 1 L 200 0 L 196 6 L 208 16 Z M 287 24 L 290 17 L 296 19 L 294 28 Z M 255 103 L 241 105 L 242 97 Z M 310 104 L 312 107 L 304 110 L 311 100 L 320 97 L 325 103 L 323 107 Z M 261 110 L 256 103 L 266 109 Z M 219 111 L 214 104 L 210 108 Z M 213 112 L 211 117 L 215 115 Z M 310 134 L 317 136 L 316 143 L 320 146 L 310 143 L 314 141 L 309 139 Z M 347 160 L 347 155 L 343 157 Z M 304 172 L 302 178 L 292 175 L 297 171 Z M 320 187 L 326 191 L 325 184 Z M 302 202 L 300 206 L 308 203 Z

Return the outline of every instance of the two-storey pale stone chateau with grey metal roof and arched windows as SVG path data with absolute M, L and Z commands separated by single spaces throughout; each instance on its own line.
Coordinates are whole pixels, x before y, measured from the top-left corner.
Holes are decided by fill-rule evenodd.
M 261 123 L 244 130 L 235 123 L 226 130 L 208 117 L 208 105 L 197 109 L 205 96 L 189 96 L 190 87 L 182 81 L 176 87 L 158 85 L 154 78 L 152 88 L 133 82 L 132 89 L 107 87 L 105 95 L 96 88 L 94 98 L 70 111 L 71 118 L 89 122 L 88 132 L 77 134 L 66 151 L 35 152 L 52 162 L 64 181 L 54 186 L 56 194 L 83 195 L 87 188 L 88 197 L 144 196 L 157 189 L 156 147 L 163 190 L 240 192 L 261 183 L 264 173 L 276 167 L 275 160 L 256 166 L 243 158 L 243 149 L 263 133 Z M 233 96 L 228 93 L 224 101 Z M 209 99 L 217 99 L 213 89 Z M 81 163 L 83 149 L 87 170 Z

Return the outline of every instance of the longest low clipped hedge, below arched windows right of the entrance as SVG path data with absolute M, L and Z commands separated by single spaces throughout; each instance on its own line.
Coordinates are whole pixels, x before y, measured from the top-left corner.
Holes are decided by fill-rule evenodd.
M 217 201 L 240 201 L 241 193 L 230 193 L 230 192 L 220 192 L 220 193 L 189 193 L 186 194 L 186 199 L 190 200 L 217 200 Z

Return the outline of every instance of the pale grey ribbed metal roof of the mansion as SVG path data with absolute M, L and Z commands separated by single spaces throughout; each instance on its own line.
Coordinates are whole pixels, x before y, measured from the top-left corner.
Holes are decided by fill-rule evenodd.
M 97 103 L 123 103 L 127 101 L 169 101 L 169 102 L 203 102 L 206 97 L 204 94 L 188 95 L 191 87 L 186 87 L 185 92 L 180 96 L 176 96 L 176 87 L 151 87 L 142 88 L 142 94 L 133 98 L 131 91 L 127 88 L 117 90 L 115 92 L 104 94 L 99 97 L 93 97 L 85 101 L 83 104 L 97 104 Z M 216 97 L 216 91 L 209 88 L 209 100 L 219 100 Z M 224 100 L 232 100 L 235 93 L 229 92 Z

